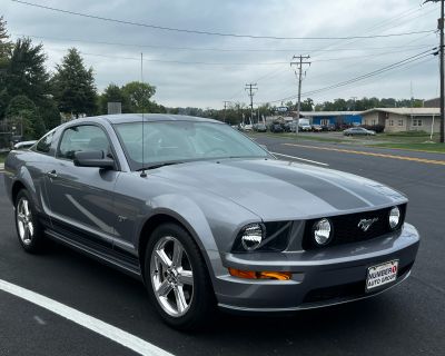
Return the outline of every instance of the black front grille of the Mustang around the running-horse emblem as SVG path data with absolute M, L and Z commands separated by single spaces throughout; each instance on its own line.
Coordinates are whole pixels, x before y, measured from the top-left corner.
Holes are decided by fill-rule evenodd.
M 406 204 L 398 206 L 400 209 L 400 222 L 398 229 L 402 227 L 403 221 L 405 219 L 406 212 Z M 369 240 L 385 234 L 392 233 L 388 224 L 388 215 L 389 208 L 357 212 L 357 214 L 348 214 L 348 215 L 338 215 L 329 217 L 330 224 L 333 226 L 333 239 L 327 246 L 323 246 L 326 248 L 328 246 L 344 245 L 357 241 Z M 377 219 L 368 230 L 364 231 L 358 227 L 358 222 L 362 219 Z M 303 248 L 306 250 L 320 248 L 315 241 L 313 236 L 313 227 L 316 221 L 319 219 L 312 219 L 306 221 L 305 234 L 303 238 Z

